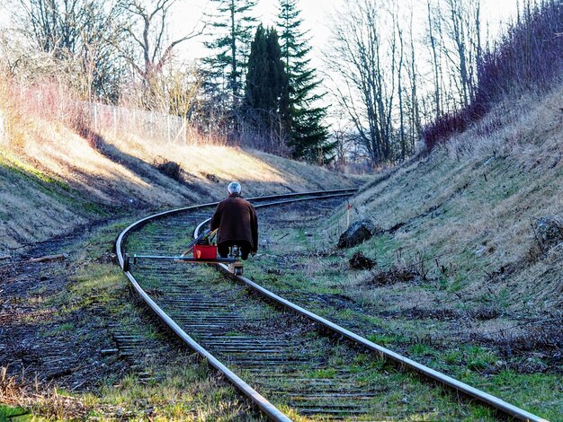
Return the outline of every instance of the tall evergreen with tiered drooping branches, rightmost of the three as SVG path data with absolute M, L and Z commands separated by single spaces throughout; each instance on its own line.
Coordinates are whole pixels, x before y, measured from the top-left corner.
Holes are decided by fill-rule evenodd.
M 318 94 L 320 84 L 307 57 L 310 47 L 306 33 L 300 30 L 297 0 L 280 0 L 278 27 L 280 28 L 281 57 L 289 81 L 290 139 L 288 145 L 296 158 L 308 161 L 332 160 L 334 143 L 328 143 L 328 130 L 323 125 L 326 107 L 315 104 L 324 94 Z M 319 160 L 320 158 L 320 160 Z

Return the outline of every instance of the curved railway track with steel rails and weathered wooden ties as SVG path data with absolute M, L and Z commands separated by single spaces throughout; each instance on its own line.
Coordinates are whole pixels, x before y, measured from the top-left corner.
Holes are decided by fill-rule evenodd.
M 304 200 L 335 201 L 354 189 L 250 198 L 255 207 Z M 341 200 L 341 199 L 340 199 Z M 443 384 L 471 400 L 523 420 L 542 421 L 484 391 L 433 371 L 405 356 L 274 295 L 246 277 L 228 277 L 201 264 L 142 260 L 124 267 L 126 251 L 178 255 L 192 229 L 197 234 L 216 203 L 178 208 L 131 224 L 119 236 L 116 251 L 125 275 L 147 305 L 192 349 L 204 356 L 273 420 L 290 420 L 290 409 L 321 418 L 463 418 L 469 400 L 442 413 L 443 394 L 413 376 L 405 394 L 437 397 L 424 409 L 402 406 L 404 415 L 382 414 L 380 395 L 386 391 L 386 363 L 393 362 Z M 265 298 L 265 301 L 264 301 Z M 323 331 L 319 333 L 319 331 Z M 375 353 L 373 353 L 375 352 Z M 266 400 L 267 398 L 267 400 Z M 405 399 L 403 399 L 405 400 Z

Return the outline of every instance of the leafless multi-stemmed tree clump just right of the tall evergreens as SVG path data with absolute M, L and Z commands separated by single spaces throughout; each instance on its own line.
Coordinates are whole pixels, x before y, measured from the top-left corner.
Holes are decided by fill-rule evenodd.
M 371 163 L 404 160 L 420 131 L 412 14 L 386 0 L 347 7 L 334 18 L 326 54 L 336 100 Z

